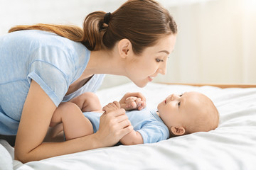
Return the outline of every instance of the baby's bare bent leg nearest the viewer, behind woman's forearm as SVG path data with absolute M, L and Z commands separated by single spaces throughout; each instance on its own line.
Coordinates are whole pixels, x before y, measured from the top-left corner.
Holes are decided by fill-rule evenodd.
M 92 123 L 75 103 L 60 103 L 53 113 L 50 126 L 63 123 L 66 140 L 90 135 L 93 133 Z

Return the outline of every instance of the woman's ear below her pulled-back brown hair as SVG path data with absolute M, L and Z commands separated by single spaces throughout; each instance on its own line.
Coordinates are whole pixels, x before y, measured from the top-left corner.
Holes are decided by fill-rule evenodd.
M 128 57 L 128 55 L 132 52 L 132 43 L 124 38 L 118 42 L 118 52 L 122 58 Z

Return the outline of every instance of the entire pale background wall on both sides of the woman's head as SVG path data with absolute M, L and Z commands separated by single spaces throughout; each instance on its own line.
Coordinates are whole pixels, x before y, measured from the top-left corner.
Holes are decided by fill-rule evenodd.
M 82 26 L 92 11 L 114 11 L 125 0 L 0 0 L 0 35 L 18 24 Z M 175 83 L 256 84 L 255 0 L 159 0 L 178 23 L 165 76 Z M 102 88 L 129 82 L 107 76 Z

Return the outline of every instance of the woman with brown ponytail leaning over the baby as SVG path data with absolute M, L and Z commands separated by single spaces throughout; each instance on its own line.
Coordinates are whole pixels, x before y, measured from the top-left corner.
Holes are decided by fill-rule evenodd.
M 177 28 L 156 1 L 130 0 L 113 13 L 90 13 L 83 27 L 16 26 L 0 38 L 0 134 L 16 135 L 15 159 L 23 163 L 114 145 L 132 131 L 123 110 L 102 115 L 95 134 L 43 140 L 60 102 L 96 91 L 103 74 L 143 87 L 166 73 Z

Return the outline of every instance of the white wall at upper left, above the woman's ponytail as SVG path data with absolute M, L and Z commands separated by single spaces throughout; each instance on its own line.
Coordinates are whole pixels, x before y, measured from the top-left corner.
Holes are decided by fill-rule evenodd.
M 71 23 L 82 26 L 92 11 L 114 11 L 124 0 L 0 0 L 0 35 L 20 24 Z

